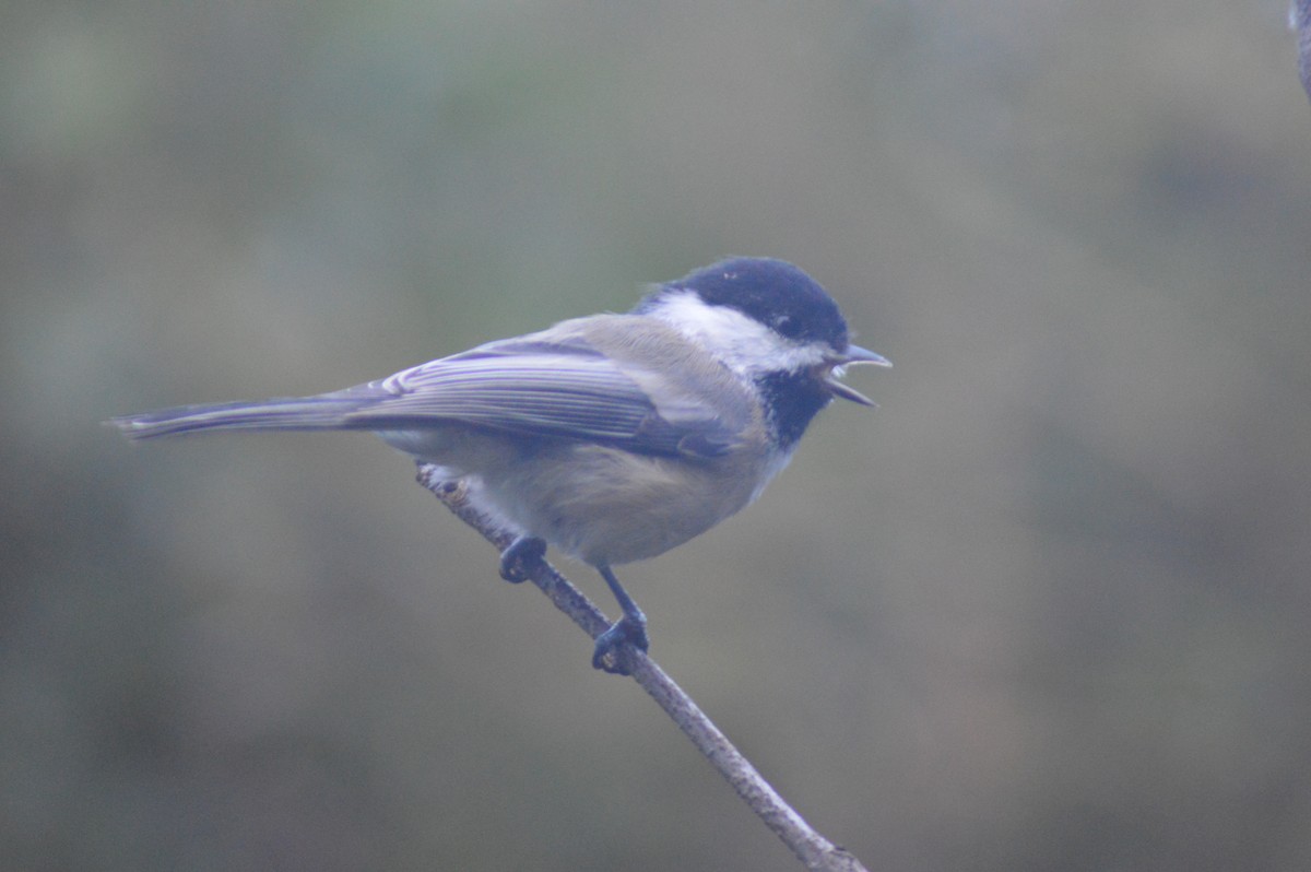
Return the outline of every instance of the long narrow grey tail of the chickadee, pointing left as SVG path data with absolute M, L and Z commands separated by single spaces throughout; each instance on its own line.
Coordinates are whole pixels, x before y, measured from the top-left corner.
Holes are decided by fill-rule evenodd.
M 370 405 L 368 397 L 309 396 L 254 403 L 180 405 L 110 418 L 128 439 L 202 430 L 349 430 L 347 416 Z

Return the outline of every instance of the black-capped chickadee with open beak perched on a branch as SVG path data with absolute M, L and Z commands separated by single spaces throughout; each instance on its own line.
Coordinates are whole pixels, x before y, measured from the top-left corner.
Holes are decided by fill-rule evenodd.
M 836 303 L 792 264 L 732 258 L 593 315 L 488 342 L 379 382 L 309 397 L 187 405 L 114 418 L 127 437 L 201 430 L 370 430 L 465 479 L 519 536 L 502 576 L 549 543 L 595 566 L 623 616 L 593 666 L 625 673 L 646 618 L 612 566 L 654 557 L 760 496 L 855 363 Z

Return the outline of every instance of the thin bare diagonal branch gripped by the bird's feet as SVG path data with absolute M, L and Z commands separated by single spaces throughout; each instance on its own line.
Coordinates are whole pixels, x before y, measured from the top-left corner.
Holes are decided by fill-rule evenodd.
M 498 551 L 505 551 L 514 539 L 511 531 L 497 526 L 493 518 L 472 505 L 463 483 L 444 479 L 440 467 L 421 463 L 418 483 L 431 490 L 460 521 L 482 534 Z M 606 615 L 545 561 L 530 574 L 528 580 L 555 603 L 556 608 L 569 615 L 593 639 L 610 627 Z M 750 761 L 729 742 L 692 698 L 683 692 L 683 688 L 675 684 L 650 657 L 635 650 L 631 666 L 633 681 L 665 709 L 701 754 L 714 764 L 720 775 L 733 785 L 737 795 L 792 848 L 808 869 L 868 872 L 852 854 L 819 835 L 806 823 L 805 818 L 797 814 Z

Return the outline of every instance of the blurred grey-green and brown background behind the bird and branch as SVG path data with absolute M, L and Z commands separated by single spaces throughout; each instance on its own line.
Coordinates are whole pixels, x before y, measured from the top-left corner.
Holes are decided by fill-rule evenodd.
M 871 869 L 1311 868 L 1282 0 L 0 17 L 5 869 L 798 868 L 401 455 L 100 424 L 724 254 L 897 365 L 621 573 L 766 776 Z

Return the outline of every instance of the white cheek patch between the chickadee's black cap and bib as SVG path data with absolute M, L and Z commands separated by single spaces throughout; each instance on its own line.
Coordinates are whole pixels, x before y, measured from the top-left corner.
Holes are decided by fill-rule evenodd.
M 663 295 L 649 315 L 704 345 L 739 375 L 796 371 L 823 363 L 823 350 L 818 345 L 780 336 L 728 306 L 707 306 L 692 291 Z

